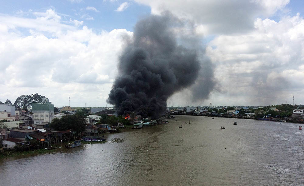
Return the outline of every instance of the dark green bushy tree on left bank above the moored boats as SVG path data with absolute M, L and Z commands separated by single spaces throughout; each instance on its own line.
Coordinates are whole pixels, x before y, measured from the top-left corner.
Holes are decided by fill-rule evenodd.
M 57 131 L 65 131 L 72 129 L 73 131 L 85 131 L 85 119 L 81 115 L 67 115 L 60 119 L 55 118 L 50 124 L 50 128 Z

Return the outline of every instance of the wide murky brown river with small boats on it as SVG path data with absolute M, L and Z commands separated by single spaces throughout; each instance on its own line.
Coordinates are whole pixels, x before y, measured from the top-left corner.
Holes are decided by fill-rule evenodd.
M 0 185 L 303 185 L 298 126 L 175 116 L 109 134 L 102 144 L 2 159 Z

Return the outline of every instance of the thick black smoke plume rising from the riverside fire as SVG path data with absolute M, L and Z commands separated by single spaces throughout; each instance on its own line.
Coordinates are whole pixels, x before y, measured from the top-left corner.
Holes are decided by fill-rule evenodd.
M 184 24 L 169 14 L 137 22 L 133 40 L 119 58 L 119 75 L 107 100 L 116 114 L 157 118 L 166 111 L 172 94 L 195 83 L 201 70 L 198 49 L 193 47 L 197 41 L 189 39 L 186 48 L 175 37 L 176 28 Z

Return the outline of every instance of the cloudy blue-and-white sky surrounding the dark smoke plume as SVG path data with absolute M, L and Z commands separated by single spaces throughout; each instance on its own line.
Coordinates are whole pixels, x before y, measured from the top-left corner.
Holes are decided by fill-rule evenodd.
M 168 106 L 293 104 L 293 95 L 295 104 L 304 104 L 302 0 L 0 4 L 2 102 L 37 92 L 56 107 L 69 105 L 69 97 L 72 107 L 110 107 L 106 100 L 119 75 L 119 55 L 136 22 L 170 12 L 192 23 L 204 58 L 212 63 L 215 85 L 200 100 L 190 99 L 191 87 L 185 88 L 168 99 Z

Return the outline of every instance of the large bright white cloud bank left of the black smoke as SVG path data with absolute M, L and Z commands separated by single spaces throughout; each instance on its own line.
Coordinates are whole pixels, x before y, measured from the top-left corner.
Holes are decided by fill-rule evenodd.
M 96 34 L 86 26 L 63 24 L 56 12 L 35 15 L 35 19 L 0 15 L 0 89 L 5 90 L 0 100 L 14 102 L 22 94 L 38 92 L 57 106 L 66 105 L 68 96 L 74 106 L 105 106 L 124 39 L 132 32 L 114 29 Z M 39 23 L 56 29 L 42 29 Z M 20 34 L 19 28 L 29 30 L 29 35 Z

